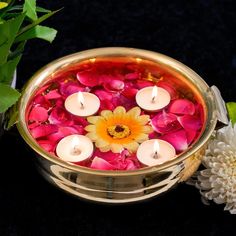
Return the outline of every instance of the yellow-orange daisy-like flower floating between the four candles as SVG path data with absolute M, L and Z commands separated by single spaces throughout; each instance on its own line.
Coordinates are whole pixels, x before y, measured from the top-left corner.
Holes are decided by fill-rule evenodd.
M 87 137 L 102 152 L 111 150 L 119 153 L 124 148 L 135 152 L 139 143 L 147 140 L 148 134 L 152 132 L 152 127 L 146 125 L 149 116 L 140 113 L 139 107 L 126 112 L 124 107 L 118 106 L 113 112 L 104 110 L 101 116 L 90 116 L 87 118 L 90 125 L 85 127 Z

